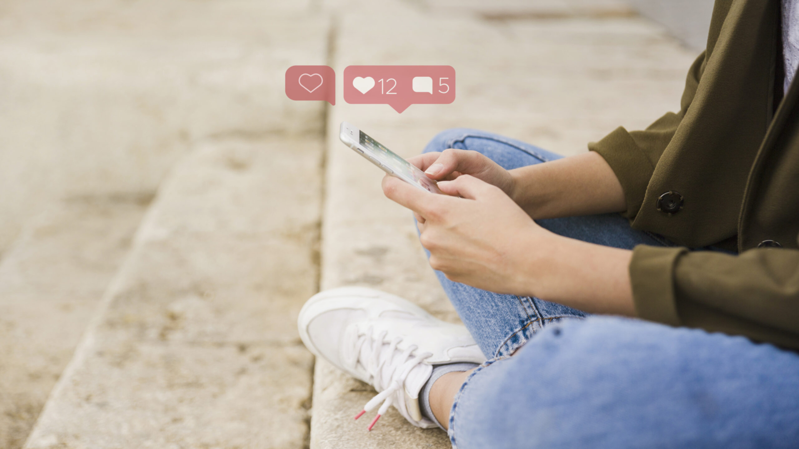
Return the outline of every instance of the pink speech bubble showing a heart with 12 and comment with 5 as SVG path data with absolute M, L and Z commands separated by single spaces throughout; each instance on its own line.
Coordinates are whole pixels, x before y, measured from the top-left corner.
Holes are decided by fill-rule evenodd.
M 388 104 L 402 113 L 413 104 L 448 105 L 455 101 L 451 66 L 348 66 L 344 101 L 351 105 Z

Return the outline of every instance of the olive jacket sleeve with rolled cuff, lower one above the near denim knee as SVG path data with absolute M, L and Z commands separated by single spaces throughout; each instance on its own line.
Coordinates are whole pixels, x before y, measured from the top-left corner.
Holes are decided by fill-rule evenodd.
M 799 250 L 730 255 L 638 245 L 630 261 L 638 316 L 799 348 Z

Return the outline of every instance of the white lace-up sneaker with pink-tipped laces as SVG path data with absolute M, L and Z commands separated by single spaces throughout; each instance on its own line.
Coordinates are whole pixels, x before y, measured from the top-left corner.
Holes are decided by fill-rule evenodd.
M 360 418 L 378 403 L 394 406 L 417 427 L 436 427 L 419 411 L 419 391 L 432 365 L 486 358 L 463 325 L 438 320 L 410 301 L 372 288 L 333 288 L 305 303 L 297 319 L 300 337 L 317 357 L 378 391 Z

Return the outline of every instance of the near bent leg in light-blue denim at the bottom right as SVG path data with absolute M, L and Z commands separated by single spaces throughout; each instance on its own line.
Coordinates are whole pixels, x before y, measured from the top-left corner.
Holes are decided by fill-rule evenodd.
M 618 318 L 569 321 L 477 372 L 462 389 L 452 428 L 463 448 L 487 447 L 491 435 L 504 439 L 492 447 L 509 448 L 650 447 L 667 438 L 664 429 L 718 435 L 747 428 L 750 415 L 736 410 L 795 413 L 790 395 L 773 394 L 799 388 L 784 375 L 796 372 L 790 367 L 799 367 L 793 354 L 742 337 Z M 747 394 L 731 394 L 730 385 Z

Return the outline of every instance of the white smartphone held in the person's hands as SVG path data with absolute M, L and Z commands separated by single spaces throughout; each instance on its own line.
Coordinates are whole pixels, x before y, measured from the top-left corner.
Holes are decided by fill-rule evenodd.
M 435 181 L 427 177 L 422 170 L 346 121 L 341 122 L 339 138 L 345 145 L 366 157 L 384 172 L 427 192 L 443 193 Z

